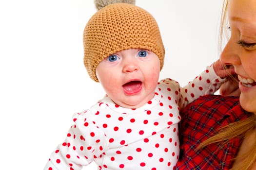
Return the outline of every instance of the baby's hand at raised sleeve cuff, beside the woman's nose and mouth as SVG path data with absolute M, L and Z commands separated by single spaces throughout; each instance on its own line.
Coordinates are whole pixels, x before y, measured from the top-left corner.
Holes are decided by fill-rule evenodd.
M 214 64 L 213 64 L 214 71 L 216 74 L 221 77 L 221 78 L 227 78 L 231 75 L 236 74 L 235 69 L 232 65 L 223 65 L 218 59 Z

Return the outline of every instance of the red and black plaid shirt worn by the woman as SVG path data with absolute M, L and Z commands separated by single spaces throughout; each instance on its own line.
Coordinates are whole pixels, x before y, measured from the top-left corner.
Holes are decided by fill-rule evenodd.
M 176 170 L 228 170 L 236 157 L 240 138 L 231 139 L 198 150 L 198 144 L 217 133 L 220 127 L 251 115 L 239 105 L 238 97 L 206 95 L 188 104 L 181 112 L 180 157 Z

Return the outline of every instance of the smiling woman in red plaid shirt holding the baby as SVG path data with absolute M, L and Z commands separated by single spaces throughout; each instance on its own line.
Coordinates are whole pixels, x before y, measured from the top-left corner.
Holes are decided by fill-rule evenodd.
M 182 111 L 177 170 L 256 169 L 256 0 L 225 0 L 230 38 L 221 61 L 233 65 L 240 97 L 204 96 Z

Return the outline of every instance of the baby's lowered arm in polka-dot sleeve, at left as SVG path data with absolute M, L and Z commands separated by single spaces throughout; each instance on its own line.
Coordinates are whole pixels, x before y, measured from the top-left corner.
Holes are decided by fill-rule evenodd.
M 81 170 L 107 149 L 104 135 L 93 122 L 77 114 L 63 143 L 51 154 L 44 170 Z

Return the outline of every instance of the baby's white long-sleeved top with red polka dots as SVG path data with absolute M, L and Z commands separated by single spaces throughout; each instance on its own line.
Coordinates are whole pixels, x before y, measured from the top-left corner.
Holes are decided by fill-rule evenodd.
M 137 109 L 106 96 L 74 115 L 74 125 L 44 170 L 81 170 L 92 161 L 98 170 L 172 170 L 179 156 L 179 110 L 214 93 L 222 81 L 212 67 L 184 88 L 164 79 L 154 98 Z

